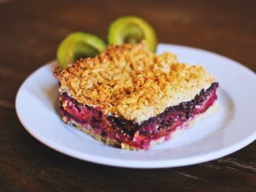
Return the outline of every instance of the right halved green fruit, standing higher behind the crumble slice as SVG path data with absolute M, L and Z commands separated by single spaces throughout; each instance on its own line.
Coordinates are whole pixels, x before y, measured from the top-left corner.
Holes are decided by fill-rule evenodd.
M 155 51 L 157 38 L 154 28 L 139 17 L 119 17 L 108 28 L 108 44 L 136 44 L 142 40 L 145 40 L 148 50 Z

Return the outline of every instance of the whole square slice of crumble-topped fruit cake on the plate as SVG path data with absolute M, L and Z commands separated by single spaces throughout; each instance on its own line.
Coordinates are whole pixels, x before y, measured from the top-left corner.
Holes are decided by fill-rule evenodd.
M 63 121 L 119 148 L 148 149 L 217 108 L 211 74 L 144 44 L 109 46 L 54 74 Z

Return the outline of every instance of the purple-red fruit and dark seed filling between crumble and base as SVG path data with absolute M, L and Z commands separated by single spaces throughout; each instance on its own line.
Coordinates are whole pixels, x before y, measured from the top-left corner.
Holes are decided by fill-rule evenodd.
M 152 141 L 166 140 L 173 131 L 181 128 L 197 114 L 207 111 L 217 100 L 218 83 L 201 90 L 195 99 L 166 108 L 163 113 L 143 121 L 140 125 L 131 120 L 106 115 L 100 108 L 82 105 L 67 93 L 61 94 L 61 114 L 66 123 L 82 127 L 97 139 L 117 147 L 148 149 Z M 111 141 L 111 142 L 109 142 Z M 127 148 L 127 147 L 125 147 Z

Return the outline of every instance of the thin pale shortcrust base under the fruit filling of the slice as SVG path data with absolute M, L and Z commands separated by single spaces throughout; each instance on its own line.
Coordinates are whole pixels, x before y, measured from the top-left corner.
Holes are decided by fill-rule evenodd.
M 182 131 L 184 131 L 186 128 L 189 128 L 190 126 L 195 125 L 196 122 L 200 121 L 201 119 L 206 118 L 208 115 L 211 115 L 212 113 L 215 113 L 216 111 L 218 111 L 218 102 L 217 101 L 215 101 L 211 107 L 207 108 L 207 110 L 204 113 L 196 114 L 193 118 L 188 119 L 182 125 L 179 125 L 176 127 L 176 129 L 170 131 L 166 136 L 159 137 L 155 140 L 151 140 L 148 144 L 148 148 L 152 148 L 157 144 L 169 141 L 170 139 L 176 137 L 178 134 L 180 134 Z M 102 137 L 102 134 L 94 131 L 94 129 L 92 129 L 92 127 L 90 125 L 81 125 L 73 119 L 70 119 L 69 121 L 67 121 L 67 118 L 65 116 L 62 117 L 62 120 L 65 123 L 67 123 L 68 125 L 76 126 L 79 130 L 84 131 L 91 137 L 95 137 L 96 140 L 98 140 L 100 142 L 107 143 L 109 145 L 113 145 L 113 146 L 124 148 L 124 149 L 130 149 L 130 150 L 148 149 L 148 148 L 137 148 L 136 146 L 131 146 L 127 143 L 118 143 L 116 140 L 109 138 L 109 137 Z

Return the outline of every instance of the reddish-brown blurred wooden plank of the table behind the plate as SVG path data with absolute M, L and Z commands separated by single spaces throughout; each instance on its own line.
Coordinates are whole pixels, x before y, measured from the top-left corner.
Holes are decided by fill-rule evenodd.
M 119 15 L 143 16 L 155 27 L 160 42 L 209 49 L 256 71 L 253 8 L 253 1 L 3 3 L 0 6 L 0 74 L 8 77 L 3 76 L 6 79 L 0 82 L 0 96 L 4 101 L 14 102 L 21 81 L 39 66 L 55 59 L 58 44 L 69 32 L 94 32 L 106 39 L 109 22 Z

